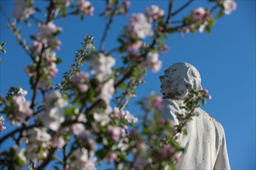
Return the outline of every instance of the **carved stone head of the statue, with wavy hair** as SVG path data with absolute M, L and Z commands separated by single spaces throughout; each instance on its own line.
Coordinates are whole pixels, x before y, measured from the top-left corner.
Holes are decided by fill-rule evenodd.
M 199 71 L 189 63 L 175 63 L 167 70 L 161 80 L 161 93 L 168 99 L 185 99 L 189 90 L 201 90 Z

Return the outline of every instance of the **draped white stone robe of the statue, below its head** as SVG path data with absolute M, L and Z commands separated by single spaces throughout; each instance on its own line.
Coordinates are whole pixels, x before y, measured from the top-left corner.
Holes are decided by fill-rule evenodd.
M 178 124 L 176 113 L 181 113 L 182 109 L 179 107 L 183 104 L 183 100 L 164 99 L 163 103 L 161 117 L 164 120 L 171 120 L 175 125 Z M 179 155 L 176 168 L 185 170 L 230 169 L 222 125 L 201 108 L 195 111 L 199 115 L 192 117 L 192 121 L 187 124 L 188 134 L 178 135 L 179 144 L 185 148 L 185 152 Z

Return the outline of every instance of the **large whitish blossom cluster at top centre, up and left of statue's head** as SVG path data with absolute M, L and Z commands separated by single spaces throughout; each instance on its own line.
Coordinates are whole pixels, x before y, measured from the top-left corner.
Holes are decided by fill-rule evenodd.
M 131 38 L 133 39 L 144 39 L 150 36 L 151 25 L 147 22 L 147 18 L 143 13 L 132 14 L 130 17 L 130 23 L 127 26 L 127 30 Z

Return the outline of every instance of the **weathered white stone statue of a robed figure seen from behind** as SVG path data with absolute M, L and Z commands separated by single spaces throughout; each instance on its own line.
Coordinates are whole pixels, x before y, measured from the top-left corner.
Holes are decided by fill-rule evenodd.
M 177 113 L 190 89 L 201 90 L 199 71 L 189 63 L 175 63 L 160 76 L 164 107 L 161 117 L 178 124 Z M 182 112 L 183 111 L 183 112 Z M 178 155 L 178 169 L 230 169 L 225 133 L 222 125 L 201 108 L 198 116 L 187 124 L 188 134 L 178 134 L 178 142 L 185 151 Z

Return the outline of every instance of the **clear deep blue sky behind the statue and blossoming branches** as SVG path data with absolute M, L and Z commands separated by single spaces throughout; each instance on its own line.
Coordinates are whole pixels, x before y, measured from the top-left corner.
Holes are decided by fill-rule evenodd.
M 178 8 L 184 2 L 186 1 L 175 1 L 174 8 Z M 202 87 L 208 89 L 213 97 L 203 109 L 223 125 L 231 168 L 255 169 L 255 1 L 236 2 L 237 10 L 231 15 L 224 15 L 223 18 L 218 19 L 211 34 L 197 32 L 195 35 L 188 34 L 183 38 L 178 34 L 170 36 L 166 43 L 171 49 L 161 57 L 162 69 L 158 73 L 148 71 L 144 79 L 147 83 L 137 88 L 137 97 L 130 101 L 128 108 L 133 114 L 141 114 L 134 102 L 140 97 L 148 96 L 150 90 L 160 93 L 158 76 L 173 63 L 191 63 L 202 76 Z M 144 8 L 151 4 L 159 5 L 166 10 L 168 1 L 131 1 L 130 9 L 131 12 L 143 12 Z M 45 2 L 36 1 L 36 6 L 41 5 L 45 5 Z M 104 2 L 92 1 L 92 5 L 95 6 L 93 17 L 86 17 L 81 21 L 78 17 L 72 16 L 55 22 L 57 26 L 63 27 L 63 32 L 59 36 L 62 41 L 61 51 L 57 52 L 63 63 L 59 66 L 60 72 L 57 73 L 55 83 L 61 80 L 62 73 L 73 62 L 74 52 L 81 47 L 85 34 L 94 36 L 95 45 L 99 48 L 99 40 L 106 21 L 99 18 L 98 14 L 104 10 Z M 192 8 L 206 5 L 209 5 L 206 1 L 197 0 L 177 15 L 177 19 L 188 14 Z M 209 6 L 211 5 L 213 4 Z M 12 15 L 12 1 L 1 1 L 1 7 L 9 16 Z M 128 17 L 117 17 L 113 22 L 106 39 L 107 51 L 117 46 L 116 37 L 127 22 Z M 17 45 L 6 23 L 1 14 L 0 41 L 7 42 L 5 46 L 7 54 L 0 54 L 2 56 L 0 87 L 3 95 L 11 86 L 21 85 L 29 90 L 29 81 L 24 68 L 31 63 L 29 56 L 26 56 L 23 49 Z M 27 28 L 23 25 L 22 30 L 22 36 L 26 39 L 36 32 L 35 28 Z M 29 41 L 28 43 L 31 44 Z M 8 122 L 6 125 L 9 126 Z M 2 147 L 5 148 L 6 144 Z

